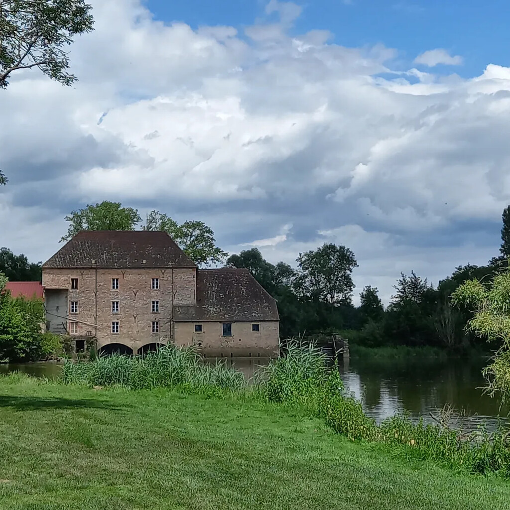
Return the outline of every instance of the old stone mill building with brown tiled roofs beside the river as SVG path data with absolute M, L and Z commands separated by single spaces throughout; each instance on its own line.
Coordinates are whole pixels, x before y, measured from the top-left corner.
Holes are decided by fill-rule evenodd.
M 42 266 L 48 330 L 77 352 L 193 345 L 278 354 L 276 301 L 246 269 L 198 269 L 165 232 L 83 231 Z

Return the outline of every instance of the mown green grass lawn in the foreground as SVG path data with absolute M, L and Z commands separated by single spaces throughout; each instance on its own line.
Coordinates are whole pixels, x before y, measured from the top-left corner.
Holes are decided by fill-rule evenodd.
M 11 380 L 11 382 L 9 382 Z M 510 508 L 510 483 L 392 458 L 270 404 L 0 377 L 0 508 Z

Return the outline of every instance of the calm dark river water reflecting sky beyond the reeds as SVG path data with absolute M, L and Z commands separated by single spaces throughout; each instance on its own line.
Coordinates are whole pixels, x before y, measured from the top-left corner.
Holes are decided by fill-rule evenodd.
M 228 359 L 227 363 L 253 377 L 260 365 L 269 360 Z M 207 363 L 213 360 L 207 359 Z M 376 421 L 407 412 L 412 418 L 423 416 L 430 422 L 430 413 L 445 404 L 454 409 L 454 426 L 473 429 L 486 423 L 493 430 L 508 416 L 508 409 L 499 409 L 499 402 L 483 394 L 481 370 L 487 364 L 483 359 L 435 360 L 376 360 L 351 359 L 340 365 L 345 386 L 361 399 L 365 412 Z M 0 365 L 0 374 L 20 370 L 37 377 L 58 377 L 61 365 L 32 363 Z M 506 423 L 510 420 L 505 419 Z

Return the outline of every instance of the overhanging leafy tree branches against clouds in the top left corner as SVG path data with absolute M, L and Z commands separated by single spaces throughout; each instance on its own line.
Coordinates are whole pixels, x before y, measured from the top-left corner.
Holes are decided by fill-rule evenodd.
M 66 46 L 93 30 L 92 7 L 84 0 L 0 0 L 0 88 L 12 72 L 37 67 L 62 85 L 68 72 Z

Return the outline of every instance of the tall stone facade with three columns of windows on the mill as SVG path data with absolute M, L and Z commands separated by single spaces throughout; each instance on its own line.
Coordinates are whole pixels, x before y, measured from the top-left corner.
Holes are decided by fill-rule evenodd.
M 71 278 L 78 278 L 77 290 Z M 112 278 L 118 278 L 118 289 L 112 289 Z M 152 289 L 152 278 L 159 278 L 159 289 Z M 43 269 L 46 289 L 68 289 L 67 315 L 79 321 L 75 335 L 91 331 L 98 348 L 121 343 L 135 353 L 148 343 L 171 340 L 174 296 L 181 304 L 195 304 L 195 282 L 194 269 Z M 159 301 L 159 312 L 152 312 L 152 300 Z M 78 301 L 77 314 L 70 313 L 71 301 Z M 119 301 L 118 313 L 112 313 L 112 301 Z M 118 334 L 112 333 L 112 321 L 119 322 Z M 152 333 L 152 321 L 159 321 L 159 333 Z

